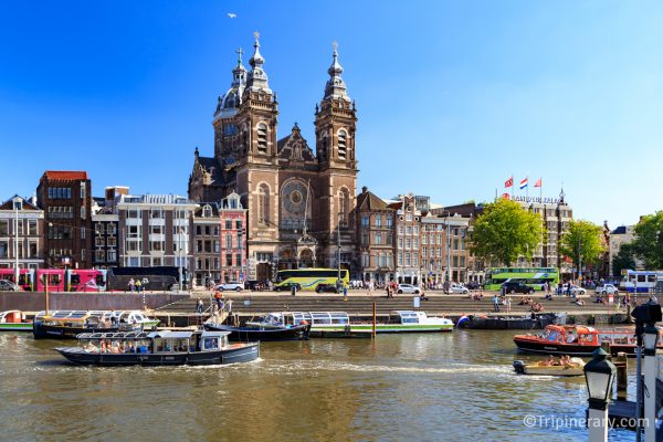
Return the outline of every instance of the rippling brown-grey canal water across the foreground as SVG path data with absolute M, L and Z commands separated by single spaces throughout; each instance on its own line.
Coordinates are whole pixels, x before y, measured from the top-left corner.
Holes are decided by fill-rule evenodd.
M 587 440 L 585 378 L 514 375 L 514 358 L 537 358 L 513 335 L 264 343 L 238 366 L 90 368 L 63 362 L 63 341 L 1 334 L 0 439 Z

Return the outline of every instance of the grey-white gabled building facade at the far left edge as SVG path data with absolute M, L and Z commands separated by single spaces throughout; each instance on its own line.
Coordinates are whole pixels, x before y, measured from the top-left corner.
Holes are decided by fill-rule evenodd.
M 14 196 L 0 204 L 0 267 L 44 266 L 44 211 Z

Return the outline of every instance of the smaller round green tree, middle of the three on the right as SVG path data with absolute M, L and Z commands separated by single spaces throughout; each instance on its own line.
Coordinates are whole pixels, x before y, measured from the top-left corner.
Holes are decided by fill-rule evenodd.
M 589 221 L 571 221 L 568 232 L 559 241 L 559 252 L 571 259 L 573 266 L 593 264 L 606 250 L 601 244 L 603 230 Z

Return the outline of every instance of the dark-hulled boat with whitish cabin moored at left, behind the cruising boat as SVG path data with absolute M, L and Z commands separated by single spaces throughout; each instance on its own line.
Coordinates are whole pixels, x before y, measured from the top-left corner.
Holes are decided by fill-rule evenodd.
M 34 316 L 32 334 L 35 339 L 73 339 L 81 333 L 118 332 L 110 315 L 112 312 L 105 311 L 40 312 Z

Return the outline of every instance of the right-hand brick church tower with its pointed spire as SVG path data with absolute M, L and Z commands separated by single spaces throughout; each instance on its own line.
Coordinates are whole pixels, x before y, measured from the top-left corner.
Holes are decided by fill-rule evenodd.
M 317 188 L 320 190 L 319 217 L 316 223 L 322 238 L 323 261 L 338 265 L 340 232 L 341 265 L 349 269 L 354 244 L 352 210 L 357 194 L 357 159 L 355 148 L 356 106 L 350 101 L 340 74 L 337 44 L 334 43 L 329 80 L 320 105 L 316 105 L 315 137 L 319 165 Z

